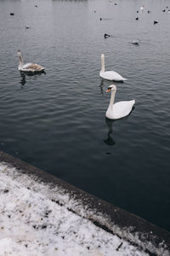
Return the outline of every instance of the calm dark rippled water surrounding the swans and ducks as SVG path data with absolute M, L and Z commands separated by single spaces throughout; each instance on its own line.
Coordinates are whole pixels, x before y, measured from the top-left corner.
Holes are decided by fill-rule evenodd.
M 170 3 L 114 3 L 0 0 L 0 149 L 170 230 Z M 22 76 L 18 49 L 46 74 Z M 105 119 L 101 53 L 126 119 Z

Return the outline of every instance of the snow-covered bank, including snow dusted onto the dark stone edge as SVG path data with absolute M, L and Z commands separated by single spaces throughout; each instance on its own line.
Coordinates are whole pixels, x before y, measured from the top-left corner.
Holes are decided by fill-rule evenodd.
M 61 186 L 19 170 L 15 166 L 20 160 L 14 161 L 14 166 L 0 162 L 0 256 L 170 255 L 165 241 L 157 247 L 139 241 L 141 234 L 133 236 L 133 227 L 121 229 L 112 223 L 104 230 L 103 224 L 111 224 L 108 216 L 88 203 L 81 205 Z

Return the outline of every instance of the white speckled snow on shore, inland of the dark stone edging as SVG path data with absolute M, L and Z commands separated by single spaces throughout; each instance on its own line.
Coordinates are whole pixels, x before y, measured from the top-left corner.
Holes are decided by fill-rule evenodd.
M 51 193 L 0 163 L 0 256 L 148 255 L 57 204 Z

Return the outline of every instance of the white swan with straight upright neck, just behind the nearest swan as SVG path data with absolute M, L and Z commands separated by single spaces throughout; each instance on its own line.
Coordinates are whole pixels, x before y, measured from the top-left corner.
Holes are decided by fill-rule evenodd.
M 105 71 L 105 55 L 101 55 L 101 70 L 100 70 L 99 76 L 102 79 L 111 80 L 111 81 L 127 80 L 122 78 L 122 76 L 119 73 L 116 73 L 115 71 Z

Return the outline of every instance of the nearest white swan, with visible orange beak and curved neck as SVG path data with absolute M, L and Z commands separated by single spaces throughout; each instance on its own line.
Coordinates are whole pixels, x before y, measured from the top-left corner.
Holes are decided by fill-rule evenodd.
M 132 100 L 132 101 L 126 101 L 126 102 L 125 101 L 116 102 L 114 104 L 115 95 L 116 95 L 116 85 L 111 84 L 111 86 L 105 92 L 109 92 L 109 91 L 111 91 L 111 101 L 109 104 L 109 108 L 105 113 L 105 116 L 108 119 L 122 119 L 132 111 L 135 101 Z

